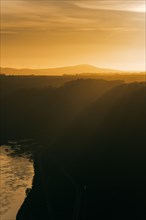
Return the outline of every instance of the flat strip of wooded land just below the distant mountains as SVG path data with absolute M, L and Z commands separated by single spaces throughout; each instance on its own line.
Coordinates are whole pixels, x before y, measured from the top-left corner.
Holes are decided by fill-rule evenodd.
M 63 76 L 35 76 L 35 75 L 5 75 L 0 74 L 1 96 L 6 96 L 18 89 L 60 87 L 66 82 L 77 79 L 122 80 L 125 82 L 142 82 L 146 80 L 145 73 L 122 74 L 76 74 Z

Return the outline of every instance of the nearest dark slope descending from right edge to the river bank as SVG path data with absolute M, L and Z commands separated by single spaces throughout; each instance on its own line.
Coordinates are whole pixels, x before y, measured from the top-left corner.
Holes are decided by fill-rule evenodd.
M 111 89 L 42 151 L 17 220 L 146 218 L 145 91 Z

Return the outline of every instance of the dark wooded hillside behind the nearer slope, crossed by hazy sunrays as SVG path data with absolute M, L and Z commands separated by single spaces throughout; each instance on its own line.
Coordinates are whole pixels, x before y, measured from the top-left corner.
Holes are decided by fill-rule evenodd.
M 48 143 L 97 98 L 122 81 L 79 79 L 59 88 L 20 89 L 2 98 L 2 137 Z

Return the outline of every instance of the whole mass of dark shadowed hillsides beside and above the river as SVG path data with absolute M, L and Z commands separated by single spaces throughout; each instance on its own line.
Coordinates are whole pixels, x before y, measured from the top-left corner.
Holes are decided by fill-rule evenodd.
M 145 91 L 144 82 L 78 79 L 2 97 L 2 141 L 43 146 L 18 220 L 145 219 Z

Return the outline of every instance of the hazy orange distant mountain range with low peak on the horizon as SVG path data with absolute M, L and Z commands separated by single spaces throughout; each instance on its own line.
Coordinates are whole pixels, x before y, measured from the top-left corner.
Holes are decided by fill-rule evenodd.
M 92 65 L 77 65 L 66 66 L 48 69 L 16 69 L 16 68 L 0 68 L 1 74 L 6 75 L 74 75 L 74 74 L 106 74 L 106 73 L 121 73 L 119 70 L 98 68 Z

